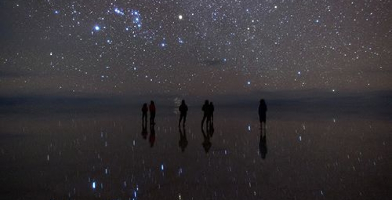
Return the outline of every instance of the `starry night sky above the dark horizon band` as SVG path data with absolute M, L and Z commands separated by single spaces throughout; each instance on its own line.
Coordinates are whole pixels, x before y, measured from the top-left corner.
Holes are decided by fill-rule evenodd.
M 391 1 L 0 1 L 0 94 L 392 88 Z

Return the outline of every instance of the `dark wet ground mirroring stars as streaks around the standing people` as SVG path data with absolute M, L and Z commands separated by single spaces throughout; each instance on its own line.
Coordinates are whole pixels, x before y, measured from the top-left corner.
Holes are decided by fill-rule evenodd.
M 260 147 L 256 110 L 217 109 L 211 144 L 199 108 L 180 130 L 175 108 L 158 109 L 146 138 L 138 110 L 3 116 L 2 199 L 392 197 L 387 119 L 270 109 Z

